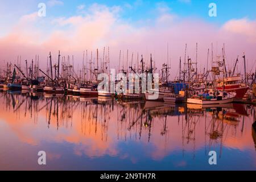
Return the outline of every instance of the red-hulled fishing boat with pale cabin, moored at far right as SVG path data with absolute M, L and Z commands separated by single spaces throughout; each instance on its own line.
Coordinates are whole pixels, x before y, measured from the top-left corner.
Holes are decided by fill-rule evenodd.
M 242 77 L 227 77 L 224 80 L 217 80 L 217 89 L 220 91 L 225 90 L 226 92 L 235 92 L 236 99 L 242 99 L 245 96 L 249 86 L 242 84 Z

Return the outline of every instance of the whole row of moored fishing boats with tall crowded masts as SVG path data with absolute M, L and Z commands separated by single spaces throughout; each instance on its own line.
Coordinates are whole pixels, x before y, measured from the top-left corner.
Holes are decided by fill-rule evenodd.
M 198 69 L 198 44 L 196 43 L 196 56 L 192 59 L 188 55 L 187 44 L 185 44 L 184 60 L 182 68 L 182 57 L 179 60 L 179 76 L 174 80 L 170 79 L 171 61 L 169 56 L 169 47 L 167 44 L 167 61 L 163 63 L 162 69 L 157 69 L 155 66 L 156 61 L 152 59 L 150 55 L 150 61 L 143 59 L 143 55 L 139 53 L 130 53 L 129 50 L 119 52 L 119 64 L 118 73 L 124 73 L 128 76 L 129 73 L 135 73 L 140 75 L 141 73 L 159 73 L 160 88 L 159 94 L 163 94 L 163 98 L 171 101 L 174 98 L 170 94 L 175 94 L 175 101 L 187 101 L 187 98 L 195 96 L 198 100 L 209 100 L 216 99 L 215 97 L 221 96 L 221 99 L 225 100 L 226 93 L 236 93 L 236 96 L 231 94 L 227 96 L 226 99 L 233 101 L 231 97 L 236 97 L 240 100 L 247 94 L 247 90 L 253 90 L 253 84 L 256 79 L 255 73 L 246 72 L 246 56 L 242 55 L 243 59 L 243 75 L 236 72 L 238 67 L 239 56 L 234 64 L 233 71 L 227 69 L 227 61 L 225 55 L 225 45 L 222 47 L 221 56 L 216 56 L 214 58 L 213 54 L 213 44 L 207 52 L 207 68 L 204 68 L 203 73 L 199 73 Z M 98 49 L 96 52 L 84 51 L 82 55 L 82 65 L 81 67 L 75 68 L 74 56 L 61 56 L 60 51 L 57 56 L 57 63 L 53 63 L 52 54 L 49 52 L 47 57 L 47 68 L 40 69 L 39 66 L 39 55 L 35 56 L 35 60 L 28 63 L 27 60 L 24 61 L 26 68 L 22 68 L 21 57 L 18 56 L 16 64 L 7 62 L 6 67 L 0 69 L 0 88 L 6 88 L 9 90 L 31 90 L 32 92 L 50 92 L 50 93 L 69 93 L 69 94 L 85 94 L 85 95 L 99 95 L 97 90 L 97 85 L 99 81 L 97 80 L 100 73 L 107 73 L 110 75 L 110 50 L 109 47 L 103 49 L 103 56 L 99 56 Z M 211 59 L 211 65 L 209 67 L 209 59 Z M 118 80 L 115 80 L 115 83 Z M 181 84 L 181 85 L 177 85 Z M 241 85 L 243 84 L 243 85 Z M 241 87 L 243 89 L 241 89 Z M 162 89 L 162 90 L 161 90 Z M 212 89 L 213 91 L 210 91 Z M 168 94 L 166 94 L 168 90 Z M 180 93 L 183 91 L 183 94 Z M 220 92 L 223 92 L 220 94 Z M 201 96 L 203 94 L 210 94 L 204 98 Z M 145 94 L 145 95 L 144 95 Z M 217 94 L 217 95 L 216 95 Z M 252 95 L 252 94 L 251 94 Z M 114 94 L 104 94 L 102 96 L 114 96 Z M 115 95 L 117 96 L 117 95 Z M 253 96 L 253 95 L 252 95 Z M 121 94 L 119 98 L 131 98 L 131 99 L 148 99 L 147 93 L 140 94 Z M 185 97 L 185 99 L 180 99 Z M 190 100 L 197 102 L 197 100 Z M 220 98 L 218 98 L 220 99 Z M 251 97 L 251 101 L 253 98 Z M 212 101 L 212 100 L 210 100 Z M 201 101 L 200 101 L 201 102 Z M 228 101 L 225 101 L 228 102 Z M 204 104 L 204 101 L 202 101 Z

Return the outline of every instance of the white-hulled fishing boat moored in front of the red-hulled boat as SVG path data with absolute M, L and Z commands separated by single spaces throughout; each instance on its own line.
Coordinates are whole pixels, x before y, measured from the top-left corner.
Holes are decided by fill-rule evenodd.
M 188 104 L 212 105 L 212 104 L 226 104 L 233 102 L 236 97 L 234 92 L 214 91 L 209 90 L 203 96 L 193 96 L 188 98 Z

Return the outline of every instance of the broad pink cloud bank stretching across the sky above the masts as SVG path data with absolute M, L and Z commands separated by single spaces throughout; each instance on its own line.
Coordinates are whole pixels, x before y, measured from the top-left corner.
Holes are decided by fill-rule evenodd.
M 96 48 L 99 48 L 102 56 L 103 47 L 109 46 L 110 61 L 115 68 L 119 62 L 120 49 L 123 52 L 129 49 L 130 53 L 136 55 L 139 52 L 147 62 L 152 53 L 155 65 L 160 68 L 167 61 L 168 42 L 173 69 L 171 76 L 174 78 L 177 76 L 179 57 L 184 60 L 185 43 L 188 44 L 187 55 L 194 60 L 196 43 L 199 44 L 199 69 L 203 71 L 207 50 L 213 42 L 214 55 L 221 54 L 222 44 L 225 43 L 230 69 L 232 61 L 243 52 L 246 52 L 249 64 L 253 64 L 256 48 L 255 21 L 230 20 L 218 27 L 200 19 L 181 19 L 168 13 L 164 6 L 160 7 L 162 11 L 159 11 L 155 20 L 142 21 L 140 24 L 119 18 L 119 7 L 98 4 L 89 7 L 87 14 L 71 17 L 40 19 L 34 14 L 26 15 L 20 19 L 23 23 L 18 23 L 13 31 L 0 38 L 0 60 L 13 61 L 17 55 L 29 60 L 35 54 L 46 60 L 49 51 L 57 52 L 60 49 L 62 55 L 75 55 L 76 63 L 81 64 L 84 50 L 94 51 L 95 57 Z

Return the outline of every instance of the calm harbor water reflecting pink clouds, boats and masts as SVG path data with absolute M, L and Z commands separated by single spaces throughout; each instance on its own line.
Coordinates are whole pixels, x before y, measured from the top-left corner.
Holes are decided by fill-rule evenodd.
M 256 169 L 254 106 L 16 91 L 0 102 L 0 169 Z

